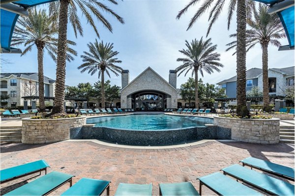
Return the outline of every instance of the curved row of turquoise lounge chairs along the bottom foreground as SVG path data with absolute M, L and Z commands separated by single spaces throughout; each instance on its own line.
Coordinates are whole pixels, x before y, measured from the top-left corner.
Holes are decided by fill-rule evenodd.
M 279 164 L 271 163 L 261 159 L 248 157 L 242 161 L 242 166 L 235 164 L 222 169 L 223 172 L 212 173 L 200 178 L 200 191 L 198 192 L 191 182 L 180 183 L 160 183 L 159 190 L 161 196 L 200 196 L 202 194 L 202 186 L 208 187 L 218 195 L 243 195 L 243 196 L 261 196 L 262 194 L 243 185 L 248 184 L 251 187 L 265 192 L 267 195 L 283 195 L 294 196 L 295 186 L 286 181 L 266 175 L 257 170 L 270 173 L 275 176 L 286 178 L 294 181 L 294 168 L 289 168 Z M 244 166 L 249 166 L 247 169 Z M 8 168 L 0 171 L 1 183 L 14 180 L 25 175 L 45 170 L 45 175 L 37 178 L 24 186 L 21 186 L 9 193 L 7 196 L 16 195 L 48 195 L 60 186 L 70 182 L 70 188 L 65 191 L 62 196 L 93 196 L 101 195 L 107 190 L 110 194 L 110 181 L 82 178 L 72 186 L 73 175 L 50 172 L 46 174 L 47 168 L 50 167 L 44 160 Z M 231 177 L 227 177 L 229 175 Z M 233 179 L 234 178 L 234 179 Z M 236 179 L 236 180 L 235 180 Z M 241 181 L 242 183 L 239 183 Z M 200 194 L 199 194 L 200 193 Z M 151 196 L 152 184 L 126 184 L 119 183 L 115 196 Z

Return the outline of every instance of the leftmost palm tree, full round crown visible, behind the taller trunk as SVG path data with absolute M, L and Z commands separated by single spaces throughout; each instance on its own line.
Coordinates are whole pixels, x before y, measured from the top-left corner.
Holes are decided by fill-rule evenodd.
M 57 52 L 57 34 L 58 27 L 54 23 L 51 15 L 47 15 L 46 10 L 37 11 L 36 8 L 29 9 L 28 17 L 21 17 L 14 28 L 11 45 L 23 44 L 26 49 L 21 55 L 27 54 L 33 46 L 37 48 L 38 59 L 38 81 L 39 81 L 39 108 L 40 111 L 45 111 L 44 100 L 44 75 L 43 75 L 43 56 L 46 49 L 49 56 L 56 61 Z M 76 45 L 75 42 L 66 41 L 67 45 Z M 71 55 L 77 55 L 77 52 L 69 47 L 66 48 L 68 52 L 66 59 L 73 60 Z

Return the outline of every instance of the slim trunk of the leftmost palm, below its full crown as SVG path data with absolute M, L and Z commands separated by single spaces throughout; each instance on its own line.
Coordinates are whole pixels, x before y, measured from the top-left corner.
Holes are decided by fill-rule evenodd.
M 44 99 L 44 75 L 43 75 L 43 47 L 37 46 L 38 49 L 38 80 L 39 80 L 39 109 L 40 112 L 45 112 Z

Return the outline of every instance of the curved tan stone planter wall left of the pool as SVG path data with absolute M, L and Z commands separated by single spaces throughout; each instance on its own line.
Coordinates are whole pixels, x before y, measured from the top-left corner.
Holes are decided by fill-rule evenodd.
M 70 139 L 70 130 L 81 129 L 86 117 L 67 119 L 22 119 L 22 143 L 44 144 Z

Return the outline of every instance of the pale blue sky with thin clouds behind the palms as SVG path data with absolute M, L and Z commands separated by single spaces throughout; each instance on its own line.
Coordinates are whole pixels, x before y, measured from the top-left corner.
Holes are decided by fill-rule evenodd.
M 193 16 L 200 4 L 188 10 L 180 18 L 176 19 L 177 13 L 189 0 L 124 0 L 118 5 L 113 5 L 104 0 L 103 3 L 112 8 L 119 16 L 123 17 L 125 24 L 120 24 L 114 17 L 104 13 L 104 16 L 113 26 L 113 33 L 108 31 L 101 23 L 96 21 L 100 33 L 100 40 L 105 43 L 114 43 L 114 49 L 119 52 L 118 64 L 124 70 L 129 70 L 130 81 L 147 67 L 151 67 L 168 81 L 169 70 L 176 69 L 180 62 L 176 59 L 183 57 L 178 51 L 185 49 L 185 40 L 191 42 L 193 39 L 206 38 L 208 26 L 208 13 L 204 14 L 195 25 L 187 29 L 190 18 Z M 40 7 L 46 8 L 46 6 Z M 98 80 L 98 75 L 80 73 L 77 69 L 82 64 L 80 55 L 88 51 L 87 44 L 98 39 L 92 27 L 87 24 L 85 17 L 81 16 L 84 29 L 84 37 L 75 37 L 73 29 L 68 25 L 68 39 L 75 41 L 77 46 L 73 47 L 78 52 L 75 60 L 66 64 L 66 85 L 76 86 L 81 82 L 93 84 Z M 217 45 L 217 52 L 221 54 L 220 62 L 224 65 L 220 73 L 205 73 L 202 78 L 204 82 L 216 84 L 217 82 L 236 75 L 236 55 L 234 50 L 226 52 L 226 44 L 234 41 L 229 35 L 236 32 L 236 16 L 233 17 L 230 30 L 227 30 L 227 5 L 225 5 L 218 21 L 213 25 L 207 38 Z M 99 41 L 100 41 L 99 40 Z M 287 39 L 281 40 L 282 45 L 287 45 Z M 18 48 L 24 49 L 23 46 Z M 268 67 L 284 68 L 294 66 L 294 50 L 278 51 L 276 47 L 268 47 Z M 44 75 L 55 79 L 56 64 L 47 53 L 44 53 Z M 1 58 L 9 62 L 1 63 L 3 73 L 37 72 L 36 48 L 24 56 L 19 54 L 1 54 Z M 262 68 L 262 49 L 258 44 L 247 53 L 247 70 L 250 68 Z M 177 88 L 184 83 L 191 74 L 181 74 L 177 77 Z M 112 85 L 121 86 L 121 77 L 111 74 Z

